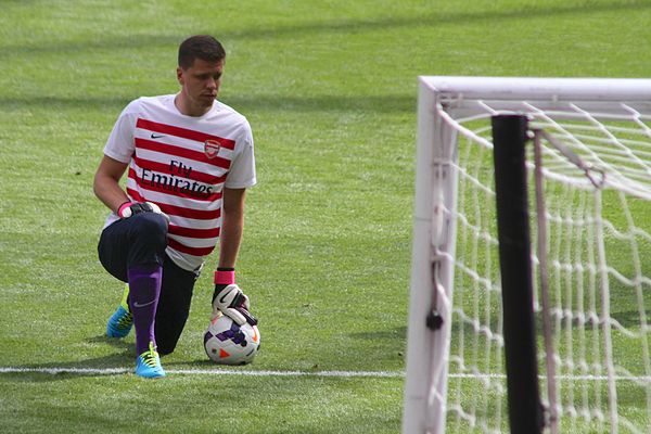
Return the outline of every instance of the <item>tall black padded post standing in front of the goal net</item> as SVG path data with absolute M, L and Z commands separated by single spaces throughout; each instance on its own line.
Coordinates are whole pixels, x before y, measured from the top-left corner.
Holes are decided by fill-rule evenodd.
M 542 432 L 525 167 L 527 119 L 493 117 L 497 231 L 511 434 Z

